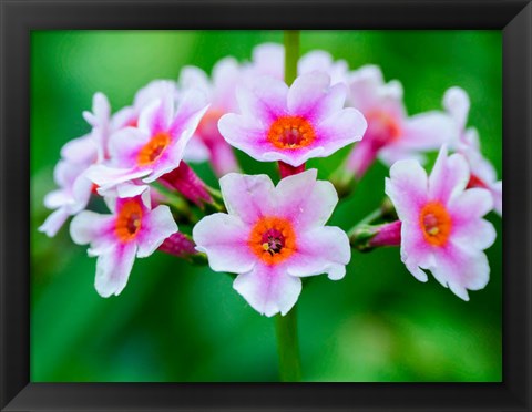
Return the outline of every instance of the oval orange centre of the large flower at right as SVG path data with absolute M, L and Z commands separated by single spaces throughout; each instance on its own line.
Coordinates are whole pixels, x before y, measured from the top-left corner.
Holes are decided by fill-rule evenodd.
M 431 202 L 421 209 L 419 225 L 424 239 L 433 246 L 443 246 L 452 228 L 451 216 L 439 202 Z

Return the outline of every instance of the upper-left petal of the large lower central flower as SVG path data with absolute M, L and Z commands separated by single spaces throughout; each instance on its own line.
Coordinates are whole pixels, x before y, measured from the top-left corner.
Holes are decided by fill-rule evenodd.
M 274 184 L 267 175 L 229 173 L 219 179 L 225 207 L 229 215 L 254 224 L 263 215 L 269 215 Z

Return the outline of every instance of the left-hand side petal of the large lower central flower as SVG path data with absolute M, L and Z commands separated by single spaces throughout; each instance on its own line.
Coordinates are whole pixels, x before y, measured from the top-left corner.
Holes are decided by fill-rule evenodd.
M 249 228 L 236 216 L 206 216 L 194 226 L 192 237 L 214 271 L 247 272 L 257 260 L 247 245 Z

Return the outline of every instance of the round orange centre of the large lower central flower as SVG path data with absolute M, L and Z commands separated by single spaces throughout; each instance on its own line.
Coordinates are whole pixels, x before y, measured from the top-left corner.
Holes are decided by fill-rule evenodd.
M 276 265 L 296 250 L 296 234 L 289 220 L 263 217 L 253 227 L 248 245 L 265 264 Z

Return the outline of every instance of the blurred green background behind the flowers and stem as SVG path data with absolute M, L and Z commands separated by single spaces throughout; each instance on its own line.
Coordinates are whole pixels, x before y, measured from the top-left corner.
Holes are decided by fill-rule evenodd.
M 31 33 L 31 381 L 276 381 L 273 319 L 232 288 L 232 278 L 156 253 L 137 259 L 125 290 L 94 290 L 95 259 L 68 225 L 52 239 L 37 231 L 49 210 L 61 146 L 85 134 L 82 111 L 105 93 L 113 111 L 154 79 L 195 64 L 249 60 L 253 47 L 283 42 L 280 31 L 35 31 Z M 501 177 L 502 45 L 499 31 L 309 31 L 301 52 L 329 51 L 355 70 L 378 64 L 405 87 L 410 114 L 441 107 L 447 87 L 471 97 L 469 124 Z M 321 178 L 348 153 L 311 161 Z M 267 172 L 238 153 L 248 173 Z M 216 184 L 206 165 L 195 167 Z M 348 229 L 383 197 L 388 171 L 375 165 L 329 224 Z M 298 300 L 305 381 L 501 381 L 501 219 L 488 250 L 491 279 L 464 302 L 429 276 L 417 281 L 398 248 L 354 251 L 341 281 L 316 277 Z

